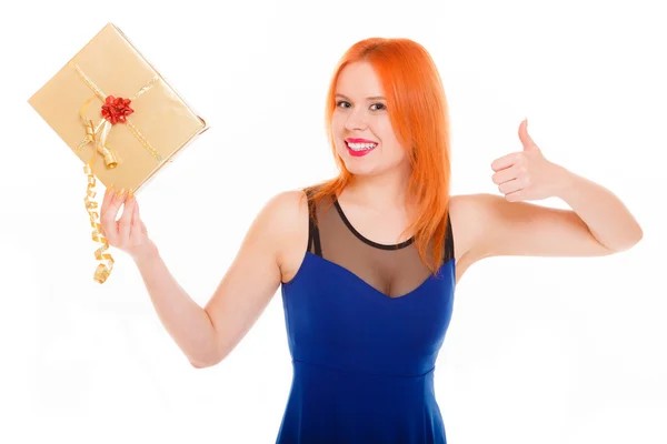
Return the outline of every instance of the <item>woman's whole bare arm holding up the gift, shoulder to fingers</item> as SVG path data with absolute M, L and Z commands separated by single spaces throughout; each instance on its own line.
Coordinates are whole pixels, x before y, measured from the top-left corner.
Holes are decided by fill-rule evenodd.
M 169 335 L 197 367 L 227 356 L 255 324 L 280 284 L 280 256 L 298 235 L 306 215 L 302 191 L 273 196 L 252 222 L 240 250 L 206 307 L 178 284 L 148 240 L 135 199 L 104 196 L 102 223 L 110 244 L 133 258 L 156 312 Z M 118 225 L 120 204 L 126 210 Z

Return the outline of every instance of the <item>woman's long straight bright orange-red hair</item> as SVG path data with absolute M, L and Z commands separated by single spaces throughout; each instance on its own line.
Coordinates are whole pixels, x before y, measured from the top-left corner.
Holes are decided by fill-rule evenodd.
M 435 273 L 442 265 L 447 232 L 451 163 L 449 115 L 436 64 L 419 43 L 409 39 L 370 38 L 355 43 L 342 56 L 329 84 L 325 112 L 327 135 L 339 174 L 311 186 L 312 198 L 320 202 L 326 196 L 338 196 L 352 179 L 336 152 L 331 117 L 340 71 L 358 61 L 369 62 L 379 77 L 391 127 L 412 167 L 407 199 L 416 198 L 418 215 L 404 234 L 414 232 L 419 256 Z M 429 244 L 434 239 L 442 242 L 432 242 L 429 259 Z

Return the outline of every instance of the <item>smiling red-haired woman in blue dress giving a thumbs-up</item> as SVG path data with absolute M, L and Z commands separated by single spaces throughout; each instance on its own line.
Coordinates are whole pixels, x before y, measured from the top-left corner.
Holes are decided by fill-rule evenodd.
M 504 198 L 450 196 L 445 92 L 410 40 L 352 46 L 326 111 L 340 175 L 272 198 L 203 310 L 167 270 L 133 196 L 107 193 L 103 232 L 198 369 L 229 355 L 281 286 L 295 373 L 277 442 L 445 443 L 434 369 L 465 271 L 498 255 L 611 254 L 641 229 L 611 192 L 545 159 L 526 121 L 522 151 L 491 164 Z M 525 202 L 549 196 L 571 210 Z

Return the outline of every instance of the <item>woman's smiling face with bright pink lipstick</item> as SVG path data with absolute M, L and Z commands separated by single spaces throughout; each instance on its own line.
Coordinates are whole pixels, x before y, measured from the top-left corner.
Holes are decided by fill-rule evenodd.
M 382 95 L 368 62 L 350 63 L 338 77 L 331 129 L 336 151 L 352 174 L 380 174 L 408 162 Z

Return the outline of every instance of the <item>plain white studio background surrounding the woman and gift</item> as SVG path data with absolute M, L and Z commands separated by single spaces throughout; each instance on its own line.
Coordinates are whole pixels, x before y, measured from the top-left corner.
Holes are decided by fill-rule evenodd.
M 468 270 L 436 371 L 448 441 L 667 442 L 659 3 L 6 7 L 0 442 L 271 443 L 287 402 L 280 292 L 226 361 L 196 370 L 128 256 L 113 251 L 109 281 L 92 281 L 81 164 L 27 100 L 109 21 L 211 125 L 140 194 L 166 262 L 201 305 L 268 199 L 336 173 L 325 93 L 356 41 L 407 37 L 436 60 L 455 194 L 498 192 L 490 164 L 521 149 L 527 115 L 545 155 L 613 190 L 645 236 L 607 258 L 496 258 Z

